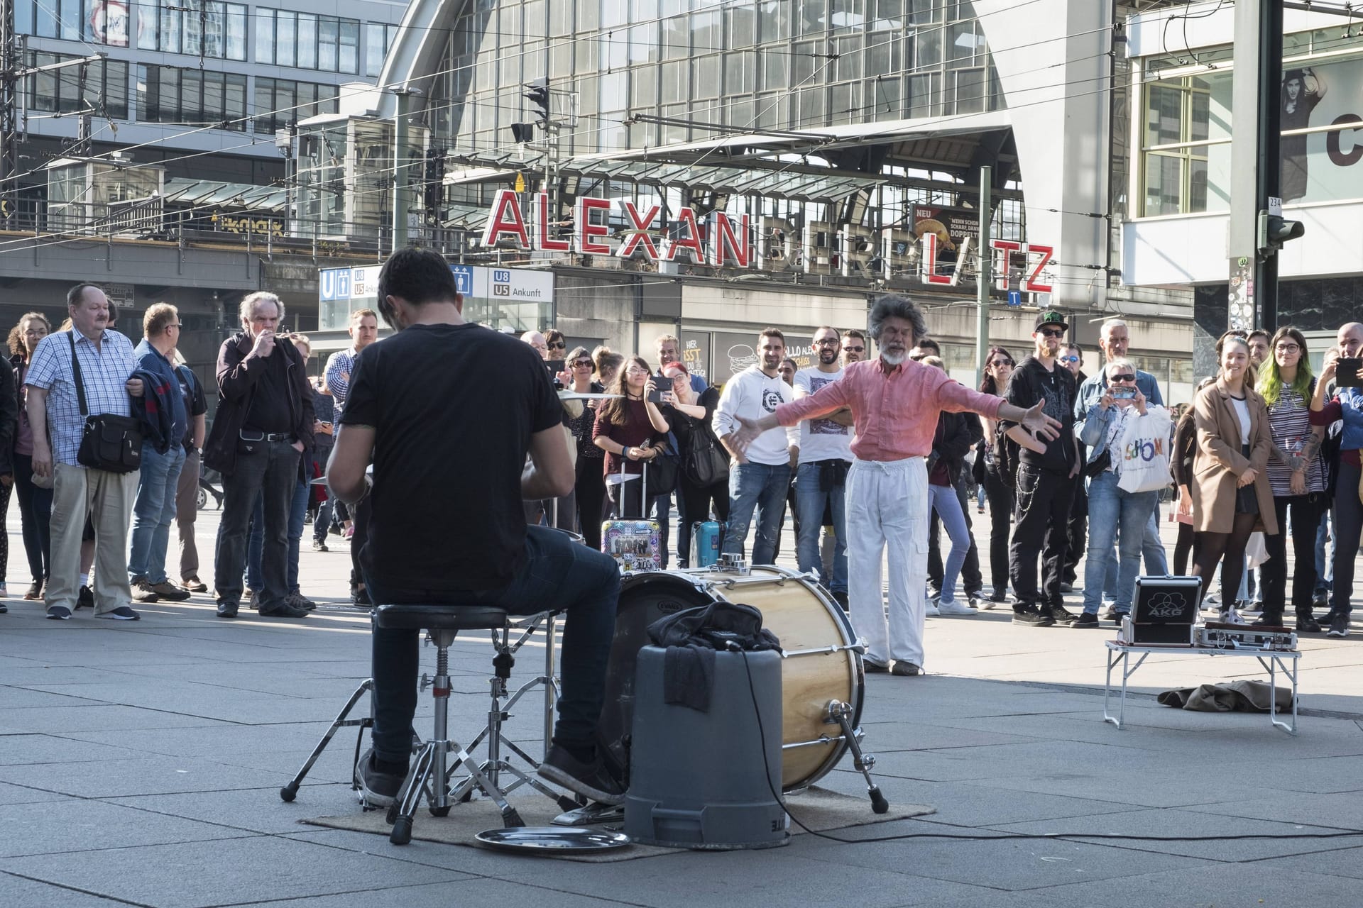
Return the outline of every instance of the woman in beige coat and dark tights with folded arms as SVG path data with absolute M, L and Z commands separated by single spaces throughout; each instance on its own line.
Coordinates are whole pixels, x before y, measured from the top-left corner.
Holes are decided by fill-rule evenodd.
M 1193 528 L 1202 547 L 1193 568 L 1202 579 L 1202 598 L 1221 566 L 1221 619 L 1236 621 L 1232 603 L 1240 587 L 1244 543 L 1262 530 L 1277 532 L 1268 466 L 1273 451 L 1269 412 L 1247 377 L 1249 344 L 1235 335 L 1221 338 L 1216 383 L 1198 392 L 1193 404 L 1197 451 L 1193 455 Z

